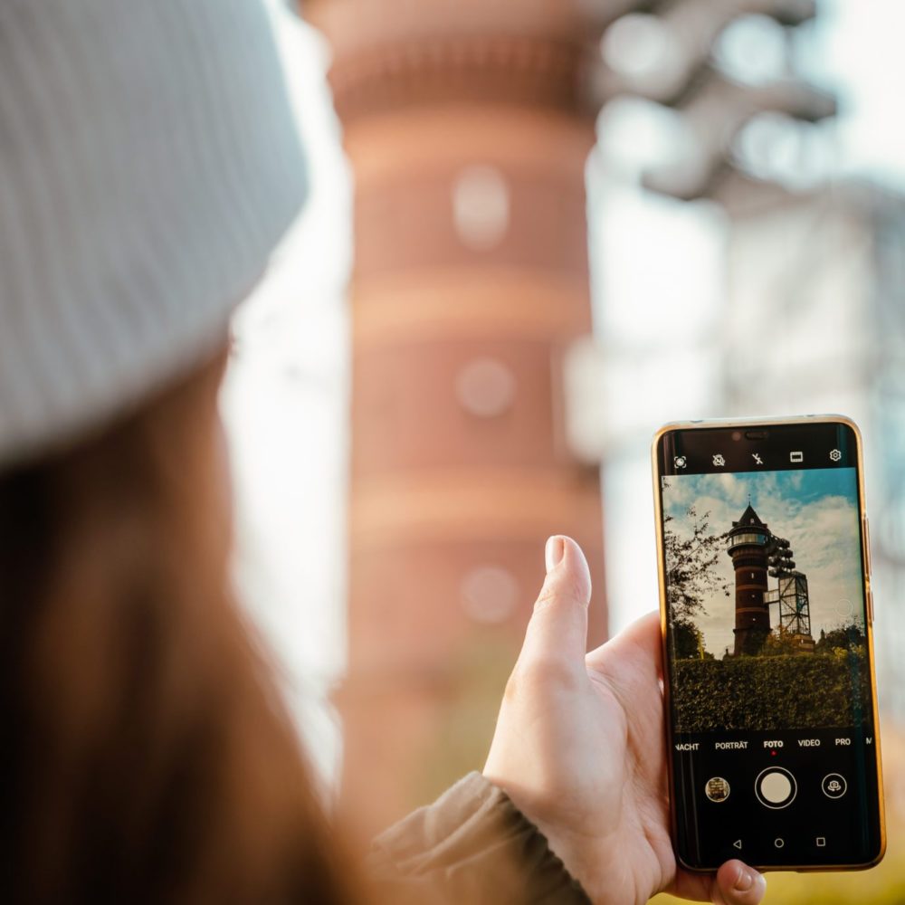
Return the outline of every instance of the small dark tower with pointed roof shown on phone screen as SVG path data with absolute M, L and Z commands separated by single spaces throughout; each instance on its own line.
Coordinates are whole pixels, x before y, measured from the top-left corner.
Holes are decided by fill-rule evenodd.
M 767 558 L 770 540 L 767 525 L 748 504 L 729 531 L 729 556 L 736 574 L 735 650 L 740 654 L 760 653 L 770 633 L 767 600 Z

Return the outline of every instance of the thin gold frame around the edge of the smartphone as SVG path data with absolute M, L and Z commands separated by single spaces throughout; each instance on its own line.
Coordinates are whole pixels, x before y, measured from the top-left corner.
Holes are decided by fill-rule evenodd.
M 678 818 L 676 814 L 676 802 L 674 795 L 674 778 L 672 775 L 672 706 L 670 703 L 670 681 L 667 672 L 667 612 L 666 612 L 666 562 L 663 550 L 663 519 L 662 519 L 662 503 L 661 503 L 661 486 L 660 486 L 660 467 L 657 459 L 657 448 L 663 436 L 673 431 L 696 431 L 708 430 L 713 428 L 731 429 L 731 428 L 760 428 L 773 425 L 786 424 L 843 424 L 850 427 L 855 437 L 855 448 L 857 450 L 858 462 L 858 507 L 859 507 L 859 532 L 861 534 L 862 547 L 862 584 L 864 587 L 864 604 L 867 611 L 865 624 L 867 627 L 867 647 L 868 647 L 868 665 L 870 666 L 871 678 L 871 698 L 873 701 L 873 737 L 875 740 L 874 754 L 877 759 L 877 795 L 878 807 L 880 808 L 880 852 L 870 862 L 862 864 L 783 864 L 778 867 L 758 868 L 764 871 L 799 871 L 799 872 L 834 872 L 834 871 L 864 871 L 875 867 L 879 864 L 883 855 L 886 854 L 886 807 L 883 798 L 883 769 L 881 758 L 881 736 L 880 736 L 880 712 L 877 705 L 877 674 L 873 656 L 873 591 L 871 587 L 871 550 L 870 550 L 870 529 L 868 528 L 867 510 L 864 503 L 864 460 L 861 430 L 851 418 L 842 414 L 818 414 L 818 415 L 799 415 L 790 418 L 718 418 L 708 421 L 685 421 L 671 422 L 663 424 L 663 426 L 653 435 L 653 443 L 651 443 L 651 462 L 653 470 L 653 510 L 654 510 L 654 531 L 657 538 L 657 572 L 659 576 L 660 587 L 660 636 L 662 649 L 662 674 L 663 674 L 663 707 L 664 719 L 666 727 L 666 750 L 668 757 L 666 758 L 666 766 L 669 775 L 669 798 L 670 798 L 670 821 L 672 829 L 673 852 L 676 856 L 676 862 L 686 871 L 695 873 L 712 873 L 710 868 L 692 867 L 681 860 L 678 851 L 675 851 L 675 840 L 678 836 Z M 757 865 L 752 864 L 752 867 Z

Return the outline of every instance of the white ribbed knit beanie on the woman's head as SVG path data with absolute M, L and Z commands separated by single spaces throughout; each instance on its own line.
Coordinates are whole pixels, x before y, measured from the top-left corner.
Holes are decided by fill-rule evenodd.
M 0 0 L 0 467 L 213 354 L 306 186 L 261 0 Z

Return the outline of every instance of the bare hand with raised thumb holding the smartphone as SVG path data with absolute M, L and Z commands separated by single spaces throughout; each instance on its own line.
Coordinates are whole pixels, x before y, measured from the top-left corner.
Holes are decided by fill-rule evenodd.
M 591 579 L 574 540 L 548 540 L 547 572 L 484 776 L 538 825 L 595 903 L 642 903 L 668 891 L 757 905 L 767 883 L 742 862 L 726 862 L 716 875 L 677 868 L 659 616 L 586 655 Z

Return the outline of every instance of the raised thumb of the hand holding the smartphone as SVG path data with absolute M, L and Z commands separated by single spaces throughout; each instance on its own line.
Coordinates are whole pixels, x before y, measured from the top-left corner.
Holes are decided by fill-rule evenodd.
M 591 573 L 572 538 L 554 535 L 545 550 L 547 578 L 540 589 L 519 661 L 561 663 L 585 669 Z

